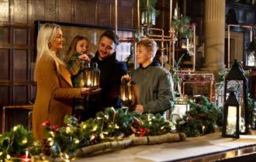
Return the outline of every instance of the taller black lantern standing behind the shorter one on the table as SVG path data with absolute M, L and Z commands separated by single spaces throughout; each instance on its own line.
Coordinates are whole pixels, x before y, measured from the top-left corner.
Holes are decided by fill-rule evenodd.
M 239 65 L 237 60 L 234 60 L 234 64 L 227 73 L 225 78 L 224 87 L 224 102 L 227 100 L 227 95 L 231 94 L 231 91 L 237 92 L 237 100 L 239 106 L 239 118 L 240 118 L 240 133 L 246 134 L 249 131 L 249 120 L 248 120 L 248 80 L 244 76 L 244 69 Z

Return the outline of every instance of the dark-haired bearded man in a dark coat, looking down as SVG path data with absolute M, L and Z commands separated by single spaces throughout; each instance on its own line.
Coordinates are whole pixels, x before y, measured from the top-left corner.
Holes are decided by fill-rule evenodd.
M 116 60 L 116 46 L 119 37 L 112 31 L 107 30 L 99 39 L 98 51 L 91 62 L 96 62 L 100 70 L 99 86 L 102 91 L 88 96 L 85 116 L 95 117 L 95 113 L 104 111 L 106 107 L 121 107 L 119 99 L 119 86 L 121 77 L 127 73 L 126 64 Z M 86 120 L 86 119 L 85 119 Z

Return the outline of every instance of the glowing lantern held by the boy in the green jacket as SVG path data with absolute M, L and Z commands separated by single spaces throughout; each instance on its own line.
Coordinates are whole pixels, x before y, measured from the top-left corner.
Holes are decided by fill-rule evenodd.
M 133 87 L 130 84 L 122 83 L 120 85 L 120 99 L 124 108 L 130 109 L 133 103 Z

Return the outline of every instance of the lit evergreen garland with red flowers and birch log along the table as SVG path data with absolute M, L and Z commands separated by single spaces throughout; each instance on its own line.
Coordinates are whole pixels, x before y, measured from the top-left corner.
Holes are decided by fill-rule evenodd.
M 19 160 L 33 156 L 37 160 L 46 157 L 70 160 L 97 149 L 185 140 L 184 133 L 170 133 L 172 123 L 160 114 L 107 108 L 105 112 L 97 113 L 95 119 L 78 123 L 73 116 L 65 116 L 64 123 L 67 127 L 51 126 L 49 121 L 42 123 L 48 132 L 43 143 L 34 140 L 32 133 L 24 127 L 14 127 L 0 137 L 0 158 Z

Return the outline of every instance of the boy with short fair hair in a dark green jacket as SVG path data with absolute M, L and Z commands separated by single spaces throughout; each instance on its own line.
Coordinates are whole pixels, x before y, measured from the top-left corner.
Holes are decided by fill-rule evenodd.
M 140 113 L 164 113 L 173 105 L 173 81 L 171 74 L 158 62 L 153 62 L 157 52 L 157 43 L 152 39 L 137 42 L 137 63 L 140 67 L 131 75 L 137 105 Z M 127 78 L 128 77 L 128 78 Z M 124 76 L 130 79 L 129 76 Z

